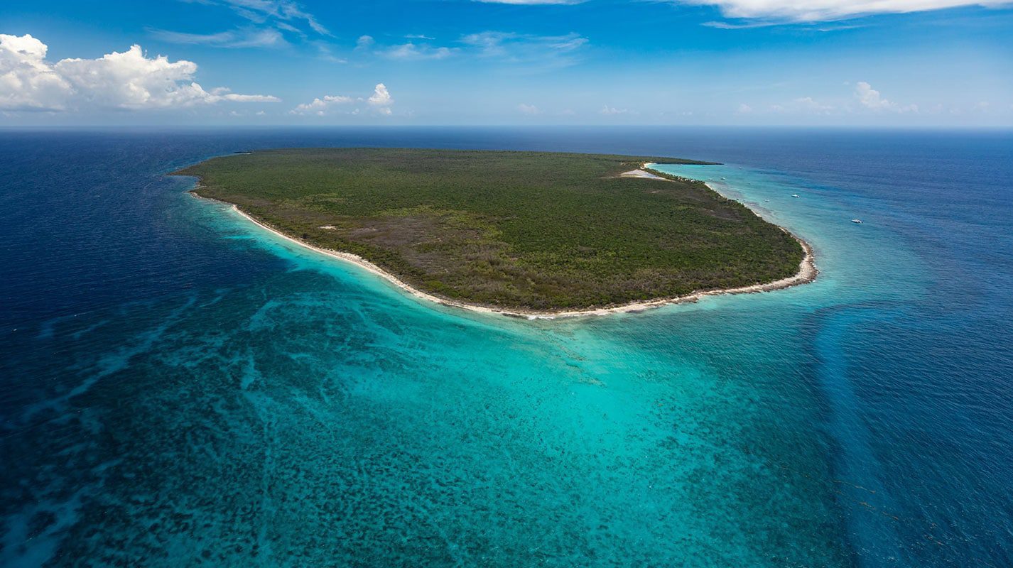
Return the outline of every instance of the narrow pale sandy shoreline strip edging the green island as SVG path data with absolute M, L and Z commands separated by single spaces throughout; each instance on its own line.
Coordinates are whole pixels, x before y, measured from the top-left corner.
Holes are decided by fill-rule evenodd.
M 644 172 L 644 173 L 649 173 L 649 172 Z M 665 180 L 665 178 L 663 178 L 663 177 L 656 177 L 656 179 Z M 707 185 L 707 187 L 710 187 L 710 185 Z M 650 310 L 650 309 L 653 309 L 653 308 L 660 308 L 663 306 L 669 306 L 669 305 L 672 305 L 672 304 L 691 304 L 691 303 L 694 303 L 694 302 L 698 302 L 702 298 L 705 298 L 707 296 L 722 296 L 722 295 L 730 295 L 730 294 L 758 294 L 758 293 L 761 293 L 761 292 L 773 292 L 773 291 L 776 291 L 776 290 L 784 290 L 786 288 L 791 288 L 791 287 L 794 287 L 794 286 L 800 286 L 800 285 L 811 282 L 812 280 L 814 280 L 816 278 L 816 275 L 820 273 L 820 270 L 815 266 L 815 258 L 814 258 L 814 255 L 812 253 L 812 247 L 807 242 L 805 242 L 803 239 L 799 238 L 797 235 L 792 234 L 790 231 L 788 231 L 784 227 L 778 226 L 778 227 L 780 227 L 780 229 L 782 231 L 784 231 L 785 233 L 791 235 L 791 237 L 793 239 L 795 239 L 796 241 L 798 241 L 798 244 L 801 245 L 802 250 L 804 252 L 804 255 L 802 256 L 802 260 L 798 264 L 798 271 L 795 272 L 795 274 L 793 274 L 791 276 L 788 276 L 788 277 L 785 277 L 785 278 L 781 278 L 779 280 L 775 280 L 775 281 L 772 281 L 772 282 L 766 282 L 766 283 L 756 283 L 756 285 L 751 285 L 751 286 L 746 286 L 746 287 L 739 287 L 739 288 L 722 289 L 722 290 L 709 290 L 709 291 L 703 291 L 703 292 L 694 292 L 694 293 L 691 293 L 691 294 L 687 294 L 685 296 L 678 296 L 678 297 L 675 297 L 675 298 L 659 298 L 659 299 L 656 299 L 656 300 L 644 300 L 644 301 L 639 301 L 639 302 L 631 302 L 629 304 L 623 304 L 623 305 L 620 305 L 620 306 L 610 306 L 610 307 L 605 307 L 605 308 L 594 308 L 594 309 L 589 309 L 589 310 L 523 310 L 523 309 L 516 309 L 516 308 L 515 309 L 498 308 L 498 307 L 495 307 L 495 306 L 485 306 L 485 305 L 481 305 L 481 304 L 470 304 L 470 303 L 467 303 L 467 302 L 460 302 L 460 301 L 457 301 L 457 300 L 450 300 L 450 299 L 447 299 L 447 298 L 442 298 L 442 297 L 439 297 L 439 296 L 436 296 L 436 295 L 433 295 L 433 294 L 428 294 L 426 292 L 422 292 L 421 290 L 418 290 L 418 289 L 412 287 L 411 285 L 405 282 L 404 280 L 402 280 L 401 278 L 399 278 L 397 275 L 395 275 L 395 274 L 393 274 L 391 272 L 388 272 L 387 270 L 384 270 L 380 266 L 374 264 L 373 262 L 370 262 L 369 260 L 363 258 L 362 256 L 359 256 L 358 254 L 353 254 L 350 252 L 342 252 L 342 251 L 339 251 L 339 250 L 321 248 L 321 247 L 309 244 L 309 243 L 307 243 L 305 241 L 302 241 L 301 239 L 297 239 L 297 238 L 292 237 L 290 235 L 286 235 L 285 233 L 283 233 L 283 232 L 275 229 L 270 225 L 267 225 L 266 223 L 263 223 L 260 220 L 254 218 L 253 216 L 247 214 L 243 210 L 239 209 L 239 207 L 236 206 L 235 204 L 230 204 L 228 201 L 222 201 L 220 199 L 215 199 L 213 197 L 205 197 L 204 195 L 201 195 L 198 192 L 198 189 L 200 189 L 200 183 L 198 183 L 198 185 L 193 189 L 190 189 L 188 192 L 189 192 L 190 195 L 192 195 L 192 196 L 194 196 L 194 197 L 197 197 L 199 199 L 207 199 L 207 200 L 210 200 L 210 201 L 216 201 L 216 202 L 219 202 L 219 204 L 224 204 L 224 205 L 230 206 L 236 213 L 238 213 L 239 215 L 241 215 L 244 219 L 246 219 L 249 222 L 257 225 L 261 229 L 269 231 L 270 233 L 274 233 L 275 235 L 277 235 L 277 236 L 279 236 L 279 237 L 281 237 L 281 238 L 283 238 L 283 239 L 285 239 L 287 241 L 290 241 L 290 242 L 295 243 L 297 245 L 300 245 L 302 247 L 308 248 L 308 249 L 313 250 L 315 252 L 318 252 L 320 254 L 324 254 L 324 255 L 327 255 L 327 256 L 330 256 L 330 257 L 333 257 L 333 258 L 337 258 L 338 260 L 343 260 L 343 261 L 349 262 L 352 264 L 356 264 L 357 266 L 359 266 L 359 267 L 361 267 L 361 268 L 363 268 L 363 269 L 365 269 L 365 270 L 367 270 L 367 271 L 369 271 L 369 272 L 371 272 L 373 274 L 376 274 L 377 276 L 380 276 L 381 278 L 383 278 L 383 279 L 387 280 L 388 282 L 394 285 L 395 287 L 399 288 L 403 292 L 406 292 L 406 293 L 410 294 L 411 296 L 414 296 L 415 298 L 419 298 L 419 299 L 422 299 L 422 300 L 425 300 L 425 301 L 428 301 L 428 302 L 440 304 L 442 306 L 448 306 L 448 307 L 451 307 L 451 308 L 459 308 L 459 309 L 462 309 L 462 310 L 468 310 L 468 311 L 471 311 L 471 312 L 478 312 L 478 313 L 481 313 L 481 314 L 494 314 L 494 315 L 500 315 L 500 316 L 506 316 L 506 317 L 526 318 L 526 319 L 530 319 L 530 320 L 535 320 L 535 319 L 576 318 L 576 317 L 585 317 L 585 316 L 607 316 L 607 315 L 610 315 L 610 314 L 636 313 L 636 312 L 642 312 L 644 310 Z M 710 187 L 710 189 L 712 191 L 720 193 L 719 191 L 717 191 L 713 187 Z M 760 216 L 756 212 L 753 212 L 753 213 L 755 215 L 757 215 L 758 217 L 762 218 L 762 216 Z

